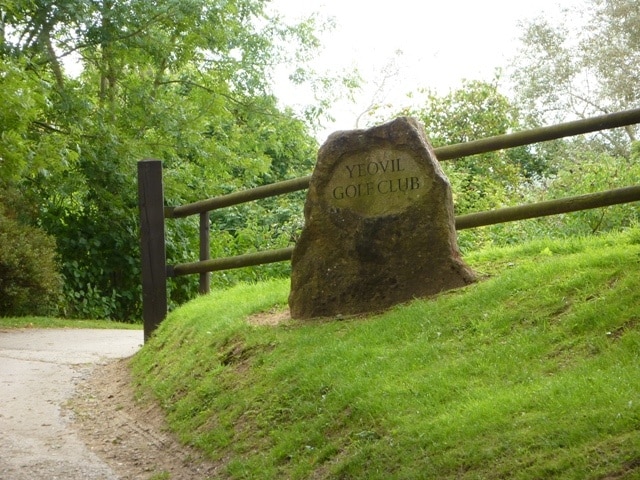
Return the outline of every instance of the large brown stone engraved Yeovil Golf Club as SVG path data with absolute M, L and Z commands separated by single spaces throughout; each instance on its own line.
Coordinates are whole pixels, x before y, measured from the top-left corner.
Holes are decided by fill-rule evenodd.
M 475 280 L 460 258 L 449 181 L 412 118 L 332 134 L 304 215 L 293 318 L 376 312 Z

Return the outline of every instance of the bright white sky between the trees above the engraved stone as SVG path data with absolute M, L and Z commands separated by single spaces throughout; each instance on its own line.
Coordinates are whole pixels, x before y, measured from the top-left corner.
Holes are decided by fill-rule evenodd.
M 506 67 L 516 53 L 520 21 L 555 16 L 576 3 L 581 0 L 272 0 L 273 7 L 289 19 L 313 12 L 334 17 L 336 28 L 322 37 L 325 51 L 316 68 L 334 72 L 357 68 L 368 83 L 357 93 L 355 104 L 344 101 L 334 106 L 336 122 L 319 133 L 321 142 L 332 131 L 356 127 L 358 116 L 374 100 L 376 82 L 394 58 L 398 74 L 388 80 L 377 100 L 400 107 L 406 103 L 405 95 L 418 88 L 447 93 L 462 79 L 491 80 L 496 68 Z M 290 86 L 276 93 L 287 104 L 312 102 L 309 92 Z

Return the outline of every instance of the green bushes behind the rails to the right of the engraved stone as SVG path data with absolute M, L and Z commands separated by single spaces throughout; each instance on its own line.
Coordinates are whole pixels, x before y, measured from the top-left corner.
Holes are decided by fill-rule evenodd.
M 428 91 L 419 109 L 401 113 L 419 118 L 435 147 L 510 133 L 526 125 L 497 85 L 485 82 L 465 82 L 445 96 Z M 638 151 L 634 144 L 631 155 L 622 155 L 591 137 L 577 137 L 445 161 L 442 167 L 452 185 L 455 212 L 462 215 L 637 184 Z M 462 251 L 471 252 L 540 237 L 613 231 L 637 221 L 638 207 L 627 204 L 464 230 L 458 241 Z

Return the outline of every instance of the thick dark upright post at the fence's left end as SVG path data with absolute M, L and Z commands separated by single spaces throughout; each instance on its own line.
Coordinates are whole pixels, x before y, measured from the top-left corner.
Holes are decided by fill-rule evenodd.
M 162 162 L 138 162 L 138 205 L 142 256 L 142 317 L 145 342 L 167 316 Z

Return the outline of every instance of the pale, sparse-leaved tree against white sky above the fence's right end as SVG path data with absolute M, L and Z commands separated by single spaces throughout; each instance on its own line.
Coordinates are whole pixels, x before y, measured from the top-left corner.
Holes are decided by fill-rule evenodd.
M 514 60 L 517 100 L 537 123 L 585 118 L 640 104 L 640 8 L 633 0 L 585 0 L 562 20 L 525 25 Z M 570 19 L 570 21 L 568 20 Z M 637 127 L 602 132 L 609 151 L 629 155 Z

